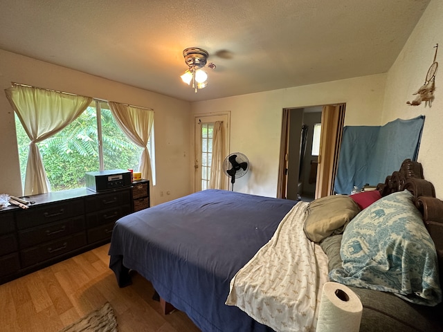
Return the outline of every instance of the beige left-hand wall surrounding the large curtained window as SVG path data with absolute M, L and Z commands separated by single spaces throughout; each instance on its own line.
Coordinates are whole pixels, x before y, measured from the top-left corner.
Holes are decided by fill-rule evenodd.
M 11 82 L 154 109 L 157 182 L 152 204 L 190 194 L 189 102 L 0 50 L 1 89 L 8 89 Z M 14 112 L 3 91 L 0 116 L 0 194 L 17 196 L 21 180 Z

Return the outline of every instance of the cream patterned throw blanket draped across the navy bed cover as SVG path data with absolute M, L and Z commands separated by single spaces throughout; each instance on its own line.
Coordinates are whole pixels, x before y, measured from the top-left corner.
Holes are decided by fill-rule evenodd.
M 307 202 L 299 202 L 230 282 L 226 304 L 275 331 L 314 331 L 327 256 L 303 232 Z

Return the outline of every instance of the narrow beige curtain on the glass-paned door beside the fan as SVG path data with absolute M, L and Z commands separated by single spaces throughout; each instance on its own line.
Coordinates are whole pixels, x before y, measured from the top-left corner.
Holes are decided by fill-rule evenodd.
M 216 121 L 213 129 L 213 159 L 210 167 L 210 179 L 208 185 L 211 189 L 227 189 L 226 175 L 223 172 L 224 158 L 223 122 Z

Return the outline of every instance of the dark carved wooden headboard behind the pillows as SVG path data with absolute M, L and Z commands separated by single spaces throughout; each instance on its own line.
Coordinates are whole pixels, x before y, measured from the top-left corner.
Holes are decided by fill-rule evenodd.
M 423 222 L 435 243 L 443 286 L 443 201 L 435 198 L 434 185 L 424 179 L 422 164 L 410 159 L 401 163 L 398 172 L 387 176 L 385 183 L 377 185 L 381 196 L 405 189 L 414 195 L 415 206 L 422 212 Z

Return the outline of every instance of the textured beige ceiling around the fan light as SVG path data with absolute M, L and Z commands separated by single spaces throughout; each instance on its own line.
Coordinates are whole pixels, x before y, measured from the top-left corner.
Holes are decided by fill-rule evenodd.
M 196 101 L 385 73 L 429 0 L 0 0 L 0 48 Z M 194 93 L 182 51 L 217 68 Z M 26 82 L 23 82 L 26 84 Z

